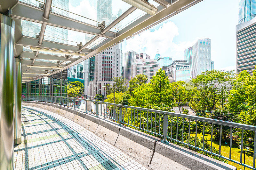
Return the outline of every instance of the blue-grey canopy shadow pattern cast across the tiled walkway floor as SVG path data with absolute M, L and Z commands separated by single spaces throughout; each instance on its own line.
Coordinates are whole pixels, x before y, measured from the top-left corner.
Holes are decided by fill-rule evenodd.
M 124 167 L 122 167 L 118 162 L 116 162 L 114 159 L 111 159 L 110 156 L 108 156 L 107 153 L 105 153 L 104 151 L 102 151 L 101 149 L 99 149 L 96 145 L 92 144 L 92 143 L 91 143 L 88 139 L 86 139 L 85 137 L 82 137 L 79 132 L 77 132 L 76 130 L 74 130 L 74 129 L 68 127 L 65 123 L 60 122 L 58 119 L 56 119 L 56 118 L 54 118 L 54 117 L 48 115 L 47 113 L 44 113 L 44 112 L 41 112 L 41 111 L 38 111 L 38 110 L 35 110 L 35 109 L 32 109 L 32 108 L 23 107 L 23 110 L 26 110 L 26 111 L 30 112 L 30 114 L 35 114 L 36 116 L 40 117 L 41 120 L 45 122 L 45 124 L 48 124 L 48 125 L 52 128 L 52 130 L 54 130 L 54 131 L 56 132 L 56 134 L 58 134 L 58 136 L 61 138 L 61 140 L 59 140 L 59 141 L 63 141 L 63 142 L 68 146 L 68 148 L 70 149 L 70 151 L 73 153 L 73 155 L 68 156 L 68 157 L 66 157 L 66 158 L 54 160 L 54 161 L 52 161 L 52 162 L 47 162 L 47 163 L 42 164 L 42 165 L 40 165 L 40 166 L 31 167 L 31 168 L 29 168 L 29 169 L 41 168 L 41 166 L 42 166 L 42 169 L 49 169 L 49 168 L 51 168 L 51 167 L 53 167 L 53 166 L 58 166 L 59 164 L 61 165 L 61 164 L 63 164 L 63 163 L 67 163 L 67 162 L 73 161 L 73 160 L 75 160 L 75 159 L 79 160 L 80 164 L 83 166 L 84 169 L 88 169 L 88 168 L 84 165 L 83 161 L 80 159 L 80 158 L 82 158 L 82 157 L 84 157 L 84 156 L 87 156 L 87 155 L 92 155 L 95 159 L 98 160 L 98 162 L 100 162 L 99 165 L 101 165 L 101 166 L 104 167 L 105 169 L 116 169 L 117 166 L 116 166 L 113 162 L 115 162 L 118 166 L 120 166 L 121 169 L 124 169 Z M 39 113 L 40 115 L 37 115 L 36 113 L 33 113 L 33 112 L 30 111 L 30 110 L 33 110 L 33 111 L 35 111 L 36 113 Z M 45 117 L 49 118 L 50 120 L 54 120 L 54 123 L 58 124 L 60 127 L 62 127 L 62 129 L 64 129 L 66 132 L 68 132 L 68 134 L 71 135 L 72 138 L 67 138 L 67 139 L 76 139 L 76 141 L 77 141 L 78 143 L 80 143 L 80 144 L 81 144 L 81 142 L 80 142 L 77 138 L 80 138 L 80 139 L 82 139 L 83 141 L 85 141 L 85 142 L 86 142 L 85 144 L 86 144 L 88 147 L 84 146 L 84 144 L 81 144 L 81 145 L 84 146 L 84 148 L 88 151 L 88 153 L 84 153 L 84 152 L 76 153 L 76 152 L 73 150 L 73 148 L 68 144 L 67 139 L 63 138 L 63 137 L 61 136 L 61 134 L 52 126 L 52 124 L 51 124 L 52 122 L 51 122 L 51 123 L 48 123 L 48 122 L 47 122 L 46 120 L 44 120 L 44 118 L 41 117 L 41 116 L 45 116 Z M 32 126 L 34 126 L 34 125 L 32 125 Z M 28 126 L 25 126 L 25 127 L 28 127 Z M 23 129 L 24 129 L 24 127 L 23 127 Z M 25 135 L 25 129 L 23 130 L 23 135 L 24 135 L 24 139 L 25 139 L 25 138 L 26 138 L 26 137 L 25 137 L 25 136 L 26 136 L 26 135 Z M 84 140 L 84 139 L 85 139 L 85 140 Z M 55 141 L 55 143 L 56 143 L 56 141 Z M 50 142 L 49 144 L 51 144 L 51 142 Z M 48 144 L 43 144 L 43 145 L 48 145 Z M 109 145 L 110 145 L 110 144 L 109 144 Z M 38 146 L 39 146 L 39 145 L 38 145 Z M 27 148 L 27 149 L 25 149 L 25 158 L 26 158 L 26 160 L 28 161 L 28 149 L 29 149 L 29 148 L 27 147 L 27 144 L 26 144 L 25 147 Z M 35 146 L 34 146 L 34 147 L 35 147 Z M 37 147 L 37 146 L 36 146 L 36 147 Z M 88 149 L 88 148 L 89 148 L 89 149 Z M 26 152 L 26 151 L 27 151 L 27 152 Z M 99 151 L 101 151 L 101 152 L 103 152 L 105 155 L 107 155 L 108 158 L 107 158 L 105 155 L 103 155 L 102 153 L 100 153 Z M 92 154 L 92 152 L 93 152 L 94 154 Z M 79 154 L 79 155 L 78 155 L 78 154 Z M 106 159 L 107 159 L 107 161 L 105 161 Z M 25 164 L 26 164 L 26 162 L 25 162 Z M 26 165 L 28 166 L 28 163 L 27 163 Z M 98 165 L 98 166 L 99 166 L 99 165 Z M 109 165 L 110 165 L 112 168 L 111 168 Z M 28 167 L 25 168 L 25 169 L 28 169 Z

